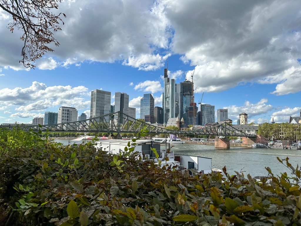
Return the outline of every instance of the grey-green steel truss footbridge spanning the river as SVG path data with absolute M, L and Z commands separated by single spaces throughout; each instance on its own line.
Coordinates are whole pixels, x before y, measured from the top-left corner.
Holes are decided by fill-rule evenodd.
M 229 123 L 215 123 L 197 130 L 169 130 L 162 127 L 153 126 L 144 121 L 132 118 L 121 111 L 102 115 L 86 120 L 58 123 L 51 125 L 8 125 L 0 128 L 13 129 L 19 127 L 25 131 L 42 132 L 78 132 L 78 133 L 172 133 L 182 135 L 213 135 L 225 137 L 256 137 L 256 135 L 243 133 L 235 129 Z

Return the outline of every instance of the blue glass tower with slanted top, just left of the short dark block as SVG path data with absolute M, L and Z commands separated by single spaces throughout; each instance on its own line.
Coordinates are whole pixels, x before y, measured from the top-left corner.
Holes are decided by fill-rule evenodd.
M 144 94 L 140 100 L 140 118 L 145 120 L 147 116 L 147 122 L 154 123 L 154 106 L 155 99 L 151 93 Z

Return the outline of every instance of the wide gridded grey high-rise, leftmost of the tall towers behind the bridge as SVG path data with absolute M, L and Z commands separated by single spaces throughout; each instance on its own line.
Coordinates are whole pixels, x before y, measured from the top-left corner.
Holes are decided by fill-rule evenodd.
M 111 110 L 111 92 L 100 89 L 91 91 L 90 118 L 109 114 Z M 109 116 L 106 117 L 109 121 Z

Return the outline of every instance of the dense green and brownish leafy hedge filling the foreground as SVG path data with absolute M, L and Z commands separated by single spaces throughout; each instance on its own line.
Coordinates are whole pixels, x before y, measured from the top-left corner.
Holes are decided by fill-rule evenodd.
M 301 225 L 300 168 L 190 176 L 142 161 L 135 140 L 119 155 L 95 141 L 68 145 L 0 130 L 2 225 Z M 277 159 L 275 159 L 277 161 Z

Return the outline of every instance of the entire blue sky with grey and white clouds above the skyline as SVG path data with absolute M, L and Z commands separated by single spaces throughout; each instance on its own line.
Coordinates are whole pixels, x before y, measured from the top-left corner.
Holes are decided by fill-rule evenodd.
M 89 115 L 90 94 L 103 89 L 162 106 L 163 70 L 177 83 L 194 73 L 195 101 L 228 108 L 234 122 L 286 122 L 301 108 L 301 2 L 77 1 L 60 4 L 61 43 L 36 61 L 19 64 L 20 31 L 0 10 L 0 122 L 29 123 L 45 111 L 76 107 Z

